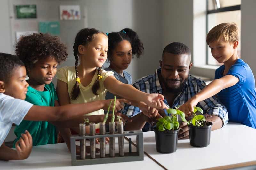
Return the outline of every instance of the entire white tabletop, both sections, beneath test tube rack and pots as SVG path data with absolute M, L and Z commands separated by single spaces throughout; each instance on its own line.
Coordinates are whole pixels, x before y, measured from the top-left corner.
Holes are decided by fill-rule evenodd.
M 167 169 L 224 169 L 241 167 L 241 165 L 256 165 L 256 129 L 241 124 L 229 123 L 222 129 L 212 131 L 210 145 L 205 148 L 190 146 L 189 139 L 178 140 L 177 151 L 170 154 L 161 154 L 156 151 L 154 131 L 145 132 L 143 136 L 144 151 Z M 135 137 L 131 138 L 134 141 Z M 127 152 L 128 142 L 124 141 Z M 108 152 L 108 146 L 106 145 L 106 152 Z M 132 146 L 132 150 L 135 151 L 134 146 Z M 144 155 L 144 161 L 71 166 L 71 154 L 65 143 L 33 147 L 31 155 L 26 160 L 0 161 L 0 169 L 81 170 L 82 168 L 103 168 L 103 170 L 162 169 L 146 155 Z

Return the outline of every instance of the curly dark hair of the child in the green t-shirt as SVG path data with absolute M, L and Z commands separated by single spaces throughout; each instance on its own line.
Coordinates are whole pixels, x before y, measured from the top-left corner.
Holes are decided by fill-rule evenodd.
M 68 57 L 66 45 L 57 36 L 48 33 L 22 36 L 16 44 L 15 52 L 25 64 L 27 73 L 28 68 L 32 68 L 41 59 L 53 56 L 60 64 Z

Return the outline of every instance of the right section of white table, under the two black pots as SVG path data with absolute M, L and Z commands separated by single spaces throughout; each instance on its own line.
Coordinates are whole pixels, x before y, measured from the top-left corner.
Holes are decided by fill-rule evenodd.
M 238 123 L 228 123 L 224 128 L 212 131 L 210 145 L 204 148 L 191 146 L 189 139 L 178 140 L 177 151 L 170 154 L 156 151 L 154 131 L 144 132 L 143 139 L 144 151 L 167 169 L 224 169 L 256 165 L 256 129 Z M 228 166 L 232 164 L 236 165 Z

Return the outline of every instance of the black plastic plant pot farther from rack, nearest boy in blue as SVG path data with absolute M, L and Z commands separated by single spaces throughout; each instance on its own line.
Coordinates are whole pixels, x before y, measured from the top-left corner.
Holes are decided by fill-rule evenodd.
M 190 145 L 206 147 L 210 144 L 212 123 L 207 122 L 204 126 L 189 125 Z

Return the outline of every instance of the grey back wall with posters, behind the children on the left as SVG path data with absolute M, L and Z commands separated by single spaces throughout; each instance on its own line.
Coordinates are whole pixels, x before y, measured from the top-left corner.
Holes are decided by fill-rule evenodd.
M 37 19 L 15 19 L 14 5 L 36 4 Z M 84 27 L 97 28 L 104 32 L 120 31 L 129 27 L 134 29 L 144 43 L 145 53 L 127 69 L 133 80 L 154 73 L 161 53 L 161 3 L 157 0 L 2 0 L 1 21 L 6 27 L 1 28 L 0 51 L 14 53 L 15 32 L 38 30 L 39 21 L 58 21 L 60 4 L 79 4 L 80 21 L 60 21 L 60 38 L 68 46 L 69 57 L 61 66 L 74 65 L 73 42 L 76 33 Z M 145 5 L 147 4 L 147 5 Z M 11 18 L 9 18 L 9 16 Z M 8 42 L 9 41 L 9 42 Z M 147 64 L 145 64 L 145 60 Z M 108 66 L 108 63 L 104 64 Z M 53 81 L 56 82 L 56 79 Z

